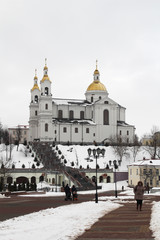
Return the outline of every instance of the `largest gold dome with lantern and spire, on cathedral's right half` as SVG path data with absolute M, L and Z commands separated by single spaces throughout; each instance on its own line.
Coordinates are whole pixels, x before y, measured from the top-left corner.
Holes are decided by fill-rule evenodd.
M 96 69 L 93 74 L 93 82 L 87 88 L 87 91 L 107 91 L 103 83 L 100 82 L 100 73 L 97 68 L 96 60 Z

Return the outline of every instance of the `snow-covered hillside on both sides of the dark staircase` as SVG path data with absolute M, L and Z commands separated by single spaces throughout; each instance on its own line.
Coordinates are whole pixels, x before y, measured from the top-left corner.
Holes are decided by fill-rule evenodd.
M 100 168 L 106 168 L 107 164 L 110 168 L 113 168 L 113 161 L 118 160 L 119 157 L 115 155 L 114 150 L 111 146 L 105 147 L 105 146 L 98 146 L 100 149 L 105 149 L 105 155 L 104 157 L 102 154 L 100 154 L 99 158 L 97 159 L 97 164 Z M 97 148 L 98 148 L 97 147 Z M 94 149 L 95 146 L 88 145 L 88 146 L 80 146 L 80 145 L 71 145 L 71 146 L 63 146 L 58 145 L 58 149 L 61 150 L 62 154 L 58 154 L 59 158 L 61 159 L 62 155 L 64 156 L 64 159 L 67 160 L 66 166 L 71 166 L 72 162 L 74 162 L 75 168 L 87 168 L 87 165 L 89 168 L 95 168 L 95 158 L 93 157 L 93 154 L 91 154 L 90 158 L 88 156 L 88 148 Z M 56 148 L 54 147 L 53 150 L 56 151 Z M 121 162 L 121 165 L 118 167 L 117 171 L 127 171 L 127 166 L 134 162 L 133 159 L 133 148 L 128 147 L 128 154 L 127 156 L 123 157 L 123 161 Z M 26 156 L 27 154 L 27 156 Z M 142 160 L 143 157 L 146 159 L 150 158 L 149 154 L 143 147 L 140 148 L 140 151 L 138 152 L 136 156 L 137 160 Z M 2 163 L 5 163 L 6 159 L 10 158 L 10 146 L 7 147 L 4 144 L 0 144 L 0 166 Z M 61 159 L 62 162 L 64 162 L 64 159 Z M 110 165 L 111 161 L 111 165 Z M 19 145 L 18 151 L 17 146 L 13 146 L 13 150 L 11 152 L 11 161 L 9 161 L 9 167 L 12 167 L 12 164 L 15 165 L 16 168 L 22 168 L 22 165 L 25 165 L 25 168 L 32 168 L 32 165 L 34 164 L 36 168 L 42 168 L 43 165 L 40 164 L 40 166 L 36 166 L 36 162 L 34 162 L 34 157 L 32 157 L 32 153 L 29 153 L 29 149 L 27 149 L 26 146 L 23 144 Z

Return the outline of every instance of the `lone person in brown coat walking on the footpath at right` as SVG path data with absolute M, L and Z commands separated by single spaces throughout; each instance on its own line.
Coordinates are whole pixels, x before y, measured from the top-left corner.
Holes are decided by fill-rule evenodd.
M 142 202 L 144 195 L 144 187 L 142 181 L 139 181 L 134 188 L 135 199 L 137 201 L 137 210 L 142 211 Z

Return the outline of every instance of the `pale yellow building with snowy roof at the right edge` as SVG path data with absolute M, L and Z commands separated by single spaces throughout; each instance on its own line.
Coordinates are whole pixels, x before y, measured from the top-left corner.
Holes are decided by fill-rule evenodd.
M 160 159 L 143 159 L 134 162 L 128 167 L 129 186 L 137 185 L 142 181 L 144 186 L 160 187 Z

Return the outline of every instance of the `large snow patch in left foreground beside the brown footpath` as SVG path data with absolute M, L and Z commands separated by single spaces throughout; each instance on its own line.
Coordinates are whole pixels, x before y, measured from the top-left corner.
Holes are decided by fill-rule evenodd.
M 71 204 L 0 222 L 1 240 L 72 240 L 121 206 L 110 201 L 95 204 Z

